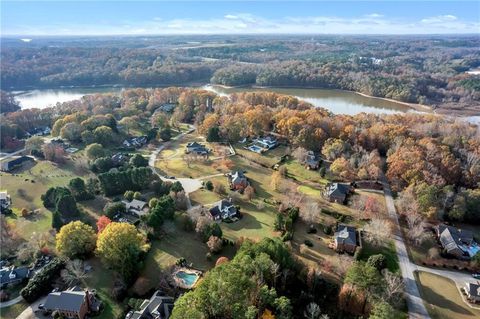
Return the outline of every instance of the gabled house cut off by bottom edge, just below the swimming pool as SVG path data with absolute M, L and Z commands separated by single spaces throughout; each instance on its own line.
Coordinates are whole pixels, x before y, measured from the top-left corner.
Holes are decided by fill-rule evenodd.
M 149 299 L 145 299 L 140 310 L 130 311 L 125 319 L 168 319 L 173 310 L 174 299 L 162 296 L 156 291 Z

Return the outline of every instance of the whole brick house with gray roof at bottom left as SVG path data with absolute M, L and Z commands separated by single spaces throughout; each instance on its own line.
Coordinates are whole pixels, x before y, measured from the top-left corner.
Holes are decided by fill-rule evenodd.
M 91 312 L 100 310 L 100 302 L 88 290 L 72 287 L 65 291 L 51 292 L 39 309 L 47 312 L 56 311 L 66 318 L 84 319 Z

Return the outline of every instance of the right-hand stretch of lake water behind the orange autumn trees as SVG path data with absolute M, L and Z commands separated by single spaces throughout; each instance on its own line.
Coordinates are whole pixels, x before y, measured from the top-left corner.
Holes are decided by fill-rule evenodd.
M 404 113 L 414 111 L 408 106 L 392 101 L 362 96 L 360 94 L 341 90 L 324 89 L 294 89 L 294 88 L 225 88 L 216 85 L 206 85 L 204 89 L 220 95 L 246 91 L 272 91 L 295 96 L 316 107 L 323 107 L 335 114 L 366 113 Z

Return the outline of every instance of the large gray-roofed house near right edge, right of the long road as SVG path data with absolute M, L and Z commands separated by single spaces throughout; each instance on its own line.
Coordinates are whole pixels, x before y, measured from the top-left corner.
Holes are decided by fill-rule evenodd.
M 440 224 L 436 232 L 442 248 L 449 255 L 468 260 L 480 252 L 471 231 Z

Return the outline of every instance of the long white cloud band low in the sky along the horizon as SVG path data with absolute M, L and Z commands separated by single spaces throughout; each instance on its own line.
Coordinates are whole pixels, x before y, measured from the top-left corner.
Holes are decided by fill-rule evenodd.
M 64 30 L 62 30 L 64 29 Z M 160 19 L 85 25 L 50 25 L 40 28 L 8 26 L 10 35 L 123 35 L 123 34 L 444 34 L 476 33 L 478 21 L 454 15 L 411 19 L 385 18 L 371 13 L 353 18 L 338 16 L 288 16 L 277 19 L 250 13 L 229 13 L 217 18 Z

